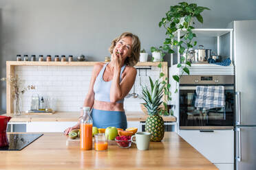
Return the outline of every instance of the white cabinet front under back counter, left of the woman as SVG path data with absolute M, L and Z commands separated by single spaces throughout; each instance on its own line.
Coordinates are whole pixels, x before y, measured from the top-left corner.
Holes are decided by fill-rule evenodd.
M 76 121 L 42 121 L 27 123 L 27 132 L 64 132 L 67 127 L 76 125 Z

